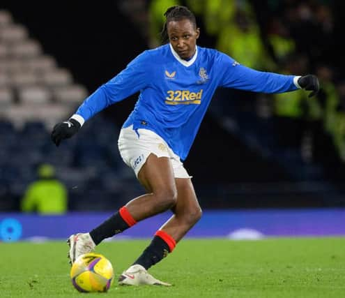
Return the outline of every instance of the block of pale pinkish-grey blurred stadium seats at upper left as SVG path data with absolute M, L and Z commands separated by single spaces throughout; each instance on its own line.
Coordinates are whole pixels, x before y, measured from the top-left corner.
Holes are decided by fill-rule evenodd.
M 16 126 L 40 120 L 47 128 L 72 112 L 88 94 L 71 73 L 57 66 L 22 24 L 0 11 L 1 117 Z

